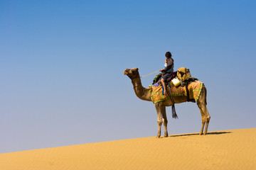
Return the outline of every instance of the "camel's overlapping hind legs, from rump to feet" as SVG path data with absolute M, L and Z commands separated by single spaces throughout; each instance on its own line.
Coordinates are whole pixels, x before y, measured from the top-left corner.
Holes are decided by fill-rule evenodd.
M 206 135 L 208 131 L 208 125 L 210 123 L 210 115 L 208 113 L 208 110 L 206 108 L 206 87 L 203 86 L 201 94 L 198 98 L 197 105 L 200 109 L 201 116 L 202 116 L 202 127 L 199 135 Z M 205 131 L 203 132 L 203 128 L 206 125 Z

